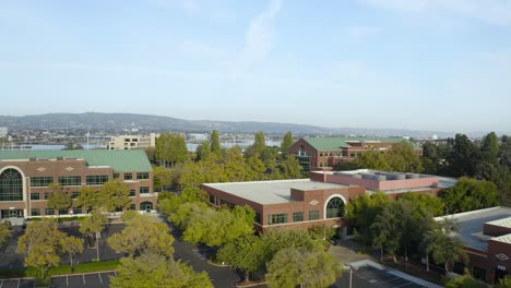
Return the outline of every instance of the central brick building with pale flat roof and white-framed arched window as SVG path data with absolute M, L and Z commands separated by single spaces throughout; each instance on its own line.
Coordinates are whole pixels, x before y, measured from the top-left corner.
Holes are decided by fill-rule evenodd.
M 213 206 L 249 205 L 257 213 L 255 228 L 266 231 L 278 227 L 343 228 L 345 205 L 353 199 L 375 191 L 392 197 L 406 192 L 436 195 L 454 185 L 455 179 L 428 175 L 354 170 L 342 173 L 316 171 L 310 179 L 205 183 L 201 188 Z

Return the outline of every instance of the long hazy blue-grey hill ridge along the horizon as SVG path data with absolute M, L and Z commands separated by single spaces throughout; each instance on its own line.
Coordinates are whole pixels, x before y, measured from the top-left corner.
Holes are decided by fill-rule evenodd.
M 285 133 L 295 134 L 343 134 L 343 135 L 376 135 L 393 136 L 407 135 L 427 137 L 437 134 L 439 137 L 452 136 L 453 133 L 433 131 L 411 131 L 394 129 L 355 129 L 355 128 L 322 128 L 314 125 L 275 123 L 275 122 L 234 122 L 211 120 L 183 120 L 164 116 L 135 113 L 46 113 L 23 117 L 0 116 L 0 127 L 8 127 L 11 131 L 26 130 L 47 131 L 81 131 L 117 132 L 140 131 L 187 131 L 210 132 L 216 129 L 221 132 L 252 133 Z

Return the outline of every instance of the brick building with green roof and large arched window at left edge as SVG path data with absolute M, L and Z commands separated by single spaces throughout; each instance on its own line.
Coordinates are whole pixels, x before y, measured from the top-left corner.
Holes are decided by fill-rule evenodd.
M 1 151 L 0 218 L 57 215 L 46 207 L 52 182 L 75 199 L 82 188 L 99 190 L 112 179 L 128 184 L 132 209 L 156 208 L 153 169 L 143 151 Z M 59 211 L 82 213 L 81 207 Z

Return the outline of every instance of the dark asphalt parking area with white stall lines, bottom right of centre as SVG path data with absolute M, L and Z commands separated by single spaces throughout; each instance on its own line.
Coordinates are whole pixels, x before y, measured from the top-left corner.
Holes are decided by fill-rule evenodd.
M 359 267 L 353 272 L 352 287 L 356 288 L 427 288 L 435 285 L 425 286 L 401 278 L 387 269 L 377 269 L 370 266 Z M 336 281 L 335 287 L 349 287 L 349 271 L 343 274 L 343 277 Z

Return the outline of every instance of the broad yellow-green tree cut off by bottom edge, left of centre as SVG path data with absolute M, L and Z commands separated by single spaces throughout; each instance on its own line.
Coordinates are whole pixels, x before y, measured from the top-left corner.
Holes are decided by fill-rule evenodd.
M 179 261 L 148 253 L 138 259 L 121 259 L 112 288 L 213 288 L 207 273 L 195 273 Z

